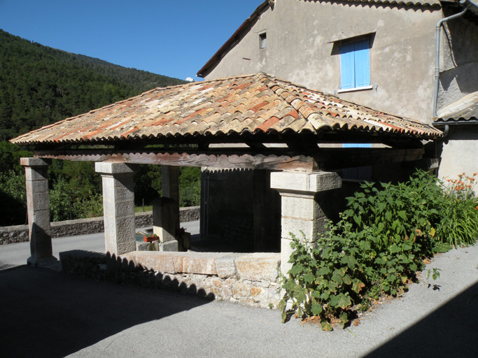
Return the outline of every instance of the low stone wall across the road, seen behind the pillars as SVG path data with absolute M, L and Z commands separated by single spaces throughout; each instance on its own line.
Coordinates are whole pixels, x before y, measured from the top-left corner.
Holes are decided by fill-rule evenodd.
M 199 206 L 179 209 L 179 220 L 190 222 L 199 220 Z M 134 218 L 136 227 L 153 226 L 153 212 L 136 213 Z M 90 219 L 66 220 L 51 223 L 52 238 L 66 236 L 97 234 L 104 231 L 103 217 L 92 217 Z M 21 243 L 28 241 L 28 225 L 17 225 L 12 227 L 0 227 L 0 245 L 8 243 Z

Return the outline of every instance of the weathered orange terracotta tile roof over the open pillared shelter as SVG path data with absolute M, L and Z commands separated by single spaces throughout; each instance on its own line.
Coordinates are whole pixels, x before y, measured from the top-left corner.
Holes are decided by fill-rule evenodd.
M 360 131 L 405 138 L 440 137 L 421 122 L 343 101 L 258 73 L 157 88 L 31 131 L 13 143 L 108 143 L 227 134 L 324 134 Z

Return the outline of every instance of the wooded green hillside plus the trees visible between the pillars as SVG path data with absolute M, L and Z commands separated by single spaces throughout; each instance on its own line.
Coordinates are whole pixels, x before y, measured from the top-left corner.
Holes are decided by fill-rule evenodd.
M 183 80 L 32 43 L 0 29 L 0 226 L 26 222 L 20 157 L 31 156 L 8 139 L 155 87 Z M 197 205 L 199 168 L 181 169 L 181 205 Z M 53 161 L 49 169 L 54 221 L 102 215 L 101 180 L 92 162 Z M 141 166 L 136 203 L 161 192 L 159 166 Z

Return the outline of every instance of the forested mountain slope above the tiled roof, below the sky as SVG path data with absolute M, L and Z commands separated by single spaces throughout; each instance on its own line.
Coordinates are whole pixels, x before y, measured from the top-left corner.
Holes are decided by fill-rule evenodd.
M 177 78 L 48 48 L 0 29 L 0 141 Z

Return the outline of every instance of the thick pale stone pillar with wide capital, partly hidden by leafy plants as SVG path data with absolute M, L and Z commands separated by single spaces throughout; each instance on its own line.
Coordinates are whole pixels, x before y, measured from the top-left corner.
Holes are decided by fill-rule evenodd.
M 271 173 L 271 187 L 281 194 L 281 271 L 286 274 L 292 249 L 291 235 L 314 241 L 324 231 L 327 219 L 316 200 L 316 194 L 342 187 L 342 178 L 337 173 L 277 172 Z M 302 231 L 302 232 L 301 232 Z

